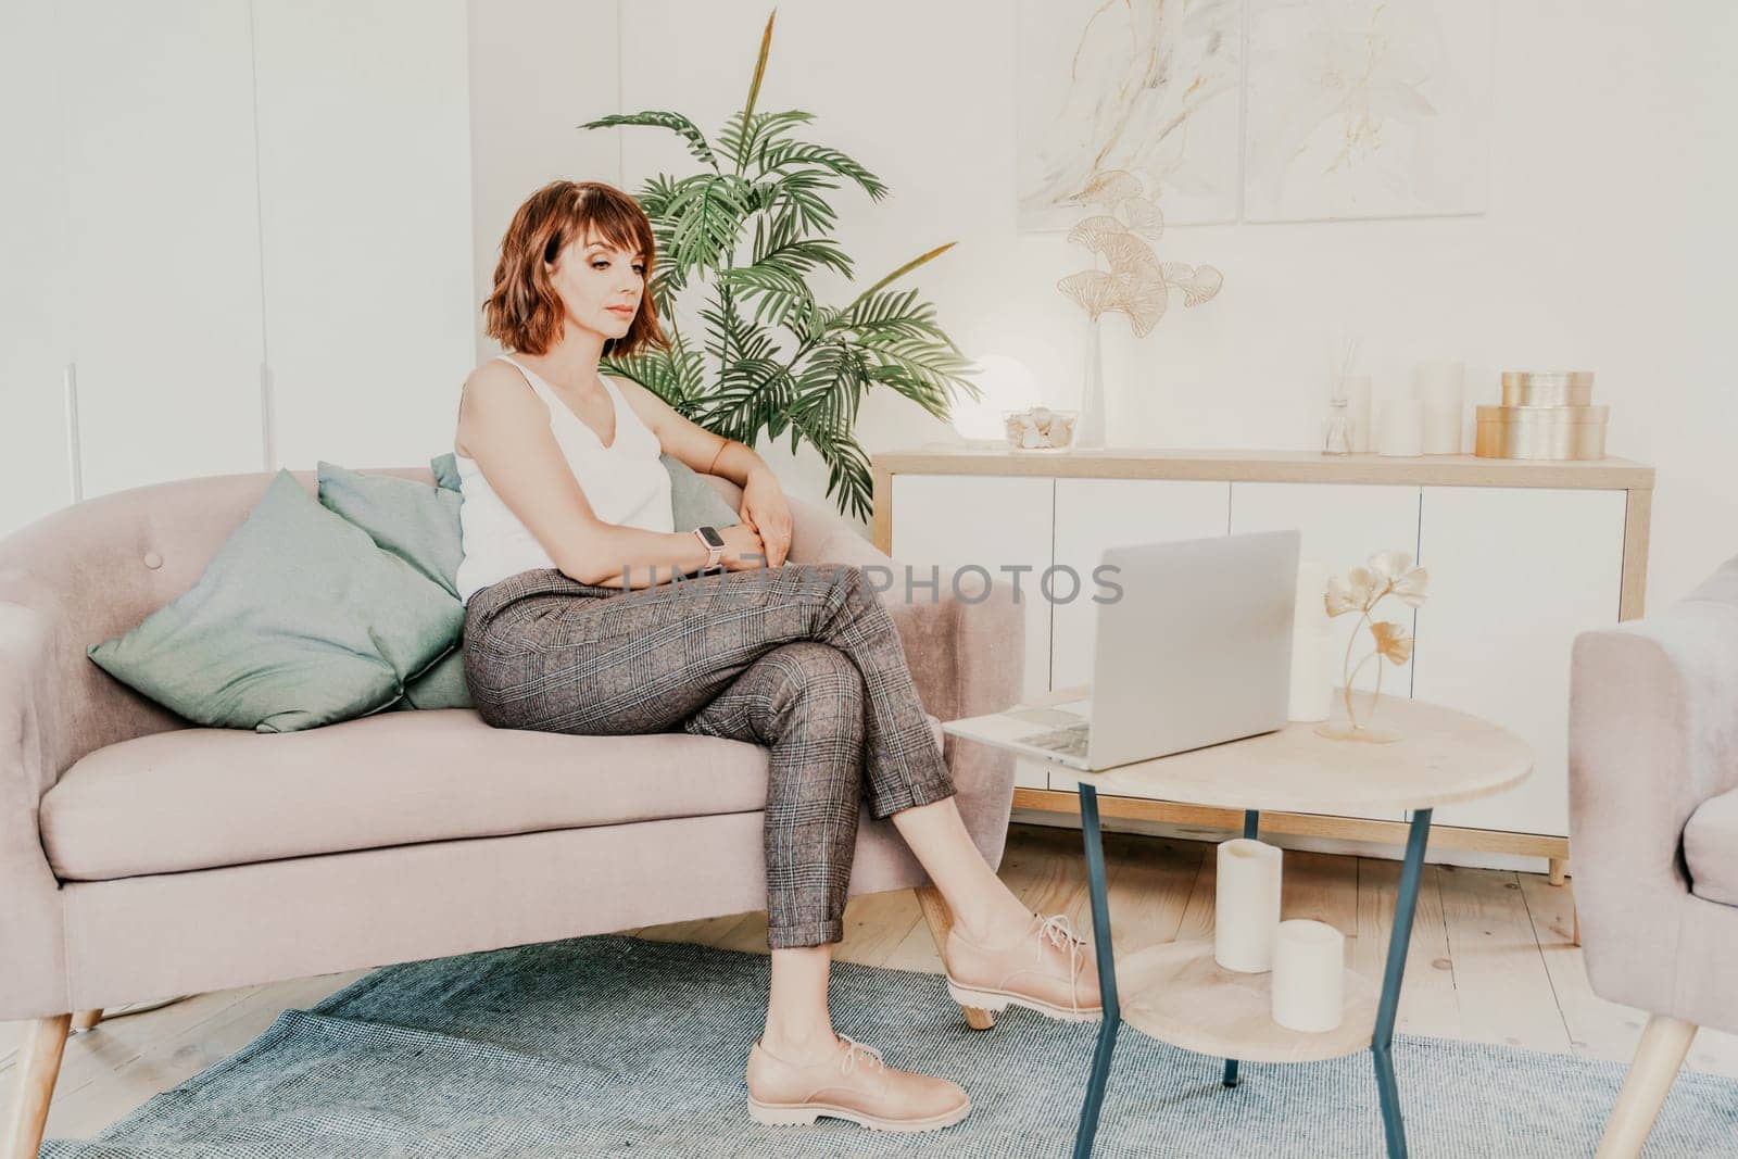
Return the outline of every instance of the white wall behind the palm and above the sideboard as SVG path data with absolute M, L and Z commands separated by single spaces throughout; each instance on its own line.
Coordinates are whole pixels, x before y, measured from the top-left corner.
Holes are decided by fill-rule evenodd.
M 666 108 L 716 130 L 742 101 L 770 7 L 634 0 L 617 14 L 607 0 L 473 0 L 478 273 L 509 202 L 551 165 L 622 177 L 627 188 L 657 167 L 690 172 L 657 130 L 617 130 L 617 167 L 584 141 L 596 134 L 567 127 Z M 1496 9 L 1489 210 L 1168 231 L 1161 257 L 1218 266 L 1225 290 L 1196 311 L 1173 304 L 1144 341 L 1109 320 L 1114 441 L 1312 447 L 1330 341 L 1342 330 L 1364 335 L 1361 363 L 1378 396 L 1432 356 L 1463 358 L 1479 401 L 1495 401 L 1502 368 L 1594 368 L 1597 401 L 1613 408 L 1609 452 L 1658 467 L 1651 598 L 1660 606 L 1738 553 L 1738 421 L 1728 398 L 1738 354 L 1722 316 L 1738 268 L 1738 70 L 1729 68 L 1738 9 L 1724 0 Z M 958 242 L 914 285 L 968 354 L 1015 354 L 1051 400 L 1072 403 L 1083 327 L 1053 287 L 1083 252 L 1060 235 L 1015 231 L 1013 12 L 1006 0 L 786 0 L 761 108 L 815 113 L 815 139 L 892 186 L 879 205 L 838 195 L 860 280 Z M 586 26 L 605 42 L 617 21 L 619 97 L 601 54 L 582 49 Z M 537 104 L 539 85 L 554 85 L 558 109 Z M 509 103 L 509 89 L 530 103 Z M 859 433 L 871 450 L 949 436 L 892 396 L 866 407 Z M 824 488 L 810 457 L 780 473 L 793 490 Z

